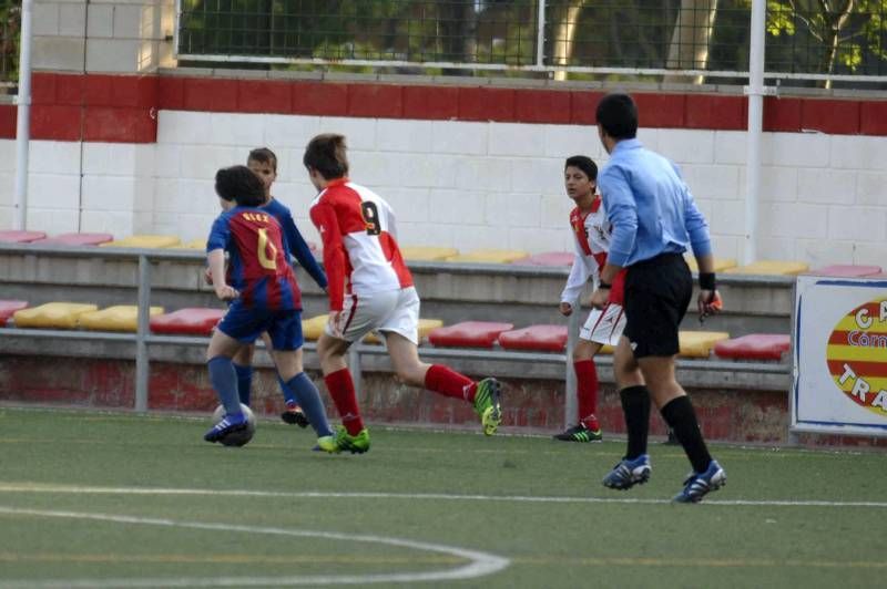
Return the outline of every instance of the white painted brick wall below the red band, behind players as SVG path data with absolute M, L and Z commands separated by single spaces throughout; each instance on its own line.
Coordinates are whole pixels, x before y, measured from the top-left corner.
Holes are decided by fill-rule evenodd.
M 278 156 L 275 195 L 306 238 L 315 190 L 302 165 L 312 135 L 348 137 L 353 178 L 394 205 L 402 245 L 572 249 L 563 158 L 605 162 L 593 127 L 161 112 L 153 145 L 34 142 L 29 228 L 203 237 L 218 204 L 215 170 L 267 145 Z M 745 218 L 745 135 L 641 130 L 681 166 L 706 214 L 718 257 L 740 259 Z M 762 259 L 887 268 L 887 137 L 814 133 L 763 137 L 757 249 Z M 14 145 L 0 142 L 0 228 L 11 226 Z M 83 175 L 81 183 L 80 176 Z M 81 211 L 82 208 L 82 211 Z

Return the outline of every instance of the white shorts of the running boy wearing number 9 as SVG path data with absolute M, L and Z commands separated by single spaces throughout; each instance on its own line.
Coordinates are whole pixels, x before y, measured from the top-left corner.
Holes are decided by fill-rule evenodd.
M 394 331 L 419 344 L 419 294 L 416 288 L 346 294 L 340 316 L 341 339 L 359 341 L 370 331 Z M 329 323 L 324 331 L 333 335 Z

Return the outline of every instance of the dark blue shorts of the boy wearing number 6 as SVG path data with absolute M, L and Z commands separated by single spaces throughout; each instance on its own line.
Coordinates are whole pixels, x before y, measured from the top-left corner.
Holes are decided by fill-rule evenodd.
M 253 343 L 267 331 L 274 350 L 298 350 L 305 343 L 302 311 L 295 309 L 247 309 L 239 300 L 235 300 L 216 329 L 241 343 Z

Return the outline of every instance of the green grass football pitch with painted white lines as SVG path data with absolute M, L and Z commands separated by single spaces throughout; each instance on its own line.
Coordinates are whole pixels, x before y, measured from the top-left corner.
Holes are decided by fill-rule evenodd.
M 714 446 L 601 486 L 624 443 L 371 427 L 365 455 L 259 422 L 0 409 L 0 587 L 884 587 L 887 455 Z

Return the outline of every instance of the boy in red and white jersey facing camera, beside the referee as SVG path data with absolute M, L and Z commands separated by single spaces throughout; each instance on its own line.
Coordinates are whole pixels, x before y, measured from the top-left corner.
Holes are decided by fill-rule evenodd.
M 602 438 L 598 423 L 598 371 L 594 355 L 609 343 L 615 347 L 625 327 L 622 311 L 624 272 L 616 276 L 612 285 L 602 285 L 600 270 L 606 262 L 610 246 L 610 224 L 601 196 L 595 194 L 598 166 L 590 157 L 574 155 L 564 164 L 567 196 L 575 208 L 570 213 L 574 245 L 573 267 L 561 293 L 560 311 L 564 316 L 573 312 L 585 282 L 598 282 L 598 288 L 610 288 L 610 301 L 603 309 L 592 309 L 579 332 L 573 349 L 573 369 L 577 376 L 579 423 L 568 427 L 554 440 L 564 442 L 599 442 Z

